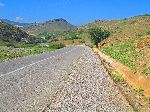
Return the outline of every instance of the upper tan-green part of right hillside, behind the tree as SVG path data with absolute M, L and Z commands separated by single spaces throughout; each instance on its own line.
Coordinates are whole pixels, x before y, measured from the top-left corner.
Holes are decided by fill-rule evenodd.
M 108 46 L 114 42 L 148 34 L 150 16 L 135 16 L 121 20 L 97 20 L 81 28 L 88 29 L 89 27 L 101 27 L 111 31 L 110 38 L 102 42 L 103 46 Z

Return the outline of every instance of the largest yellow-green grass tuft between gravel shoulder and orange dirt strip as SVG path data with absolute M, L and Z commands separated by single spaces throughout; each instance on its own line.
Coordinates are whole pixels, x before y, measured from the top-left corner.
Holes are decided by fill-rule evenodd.
M 113 78 L 113 80 L 116 82 L 116 83 L 124 83 L 124 78 L 122 77 L 122 75 L 117 72 L 117 71 L 113 71 L 111 72 L 111 77 Z

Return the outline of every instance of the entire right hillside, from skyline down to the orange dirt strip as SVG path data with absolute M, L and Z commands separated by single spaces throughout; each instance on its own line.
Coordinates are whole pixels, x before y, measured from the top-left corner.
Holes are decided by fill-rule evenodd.
M 97 20 L 81 29 L 101 27 L 111 36 L 99 46 L 103 53 L 119 60 L 134 72 L 150 76 L 150 16 L 122 20 Z

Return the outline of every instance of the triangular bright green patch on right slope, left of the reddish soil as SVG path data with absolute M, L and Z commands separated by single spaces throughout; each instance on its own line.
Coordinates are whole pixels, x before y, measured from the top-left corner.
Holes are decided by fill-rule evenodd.
M 136 71 L 135 63 L 139 54 L 134 47 L 135 41 L 136 39 L 124 42 L 116 42 L 106 48 L 101 49 L 101 51 L 127 65 L 131 70 Z

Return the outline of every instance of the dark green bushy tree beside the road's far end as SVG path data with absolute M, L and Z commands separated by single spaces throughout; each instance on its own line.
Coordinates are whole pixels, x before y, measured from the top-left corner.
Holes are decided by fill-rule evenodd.
M 91 41 L 98 48 L 98 43 L 110 36 L 110 32 L 103 30 L 102 28 L 93 27 L 89 29 L 89 34 L 91 36 Z

